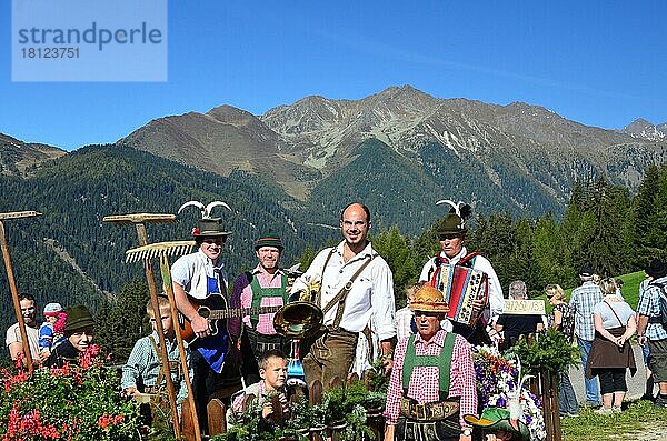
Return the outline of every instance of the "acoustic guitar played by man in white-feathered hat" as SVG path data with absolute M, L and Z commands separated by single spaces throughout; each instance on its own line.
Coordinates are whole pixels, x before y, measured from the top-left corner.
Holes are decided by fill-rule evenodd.
M 210 335 L 216 335 L 222 331 L 229 333 L 227 329 L 219 329 L 219 320 L 226 320 L 231 318 L 241 318 L 246 315 L 255 314 L 268 314 L 277 312 L 282 307 L 260 307 L 260 308 L 227 308 L 227 300 L 220 294 L 211 294 L 206 299 L 195 299 L 188 295 L 190 304 L 197 310 L 197 313 L 209 321 Z M 181 337 L 188 343 L 192 344 L 199 338 L 192 331 L 190 321 L 181 313 L 179 313 L 179 325 L 181 330 Z

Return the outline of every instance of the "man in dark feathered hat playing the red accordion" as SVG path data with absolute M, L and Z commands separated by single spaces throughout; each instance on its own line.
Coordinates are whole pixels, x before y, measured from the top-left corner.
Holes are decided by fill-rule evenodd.
M 467 232 L 466 222 L 459 214 L 449 213 L 440 221 L 436 233 L 442 251 L 426 262 L 419 275 L 419 281 L 434 285 L 434 279 L 437 277 L 438 270 L 447 264 L 472 268 L 487 275 L 488 301 L 484 303 L 481 300 L 476 300 L 472 303 L 475 310 L 481 314 L 475 328 L 452 322 L 452 332 L 464 335 L 471 344 L 480 344 L 490 342 L 491 337 L 489 333 L 496 334 L 491 325 L 495 324 L 498 317 L 504 312 L 505 301 L 502 300 L 502 287 L 491 263 L 479 253 L 468 252 L 466 249 Z

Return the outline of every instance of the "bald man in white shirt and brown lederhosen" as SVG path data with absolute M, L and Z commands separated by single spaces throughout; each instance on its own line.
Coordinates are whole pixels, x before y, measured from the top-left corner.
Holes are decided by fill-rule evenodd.
M 391 369 L 396 340 L 394 277 L 367 239 L 370 228 L 368 208 L 360 202 L 348 204 L 340 214 L 344 240 L 320 251 L 293 284 L 291 292 L 296 293 L 319 283 L 313 301 L 325 312 L 326 331 L 303 358 L 308 383 L 320 380 L 328 388 L 334 377 L 345 381 L 357 335 L 369 323 L 379 337 L 387 372 Z

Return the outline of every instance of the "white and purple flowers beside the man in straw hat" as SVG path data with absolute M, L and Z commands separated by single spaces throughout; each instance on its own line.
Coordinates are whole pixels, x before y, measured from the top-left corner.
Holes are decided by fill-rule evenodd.
M 517 361 L 508 360 L 497 349 L 486 345 L 472 348 L 472 361 L 481 407 L 508 409 L 511 401 L 518 401 L 519 420 L 530 430 L 530 439 L 544 440 L 547 432 L 541 402 L 524 385 Z

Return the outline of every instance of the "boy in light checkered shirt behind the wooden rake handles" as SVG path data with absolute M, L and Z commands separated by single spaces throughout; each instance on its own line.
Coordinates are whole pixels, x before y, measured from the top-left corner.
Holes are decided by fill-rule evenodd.
M 176 341 L 176 332 L 171 320 L 171 309 L 169 300 L 166 297 L 158 297 L 160 307 L 160 320 L 162 320 L 162 329 L 165 331 L 165 342 L 167 343 L 167 353 L 169 355 L 169 365 L 171 368 L 171 379 L 173 387 L 178 391 L 177 402 L 180 404 L 188 394 L 186 381 L 183 379 L 178 343 Z M 150 318 L 152 333 L 143 337 L 135 343 L 135 348 L 128 358 L 128 362 L 122 368 L 122 379 L 120 387 L 123 393 L 128 397 L 135 397 L 139 393 L 159 393 L 166 390 L 167 382 L 165 381 L 165 372 L 158 351 L 159 337 L 156 331 L 156 318 L 151 302 L 146 305 L 146 312 Z M 190 368 L 190 351 L 186 343 L 186 357 L 188 359 L 188 371 L 192 378 L 192 369 Z

